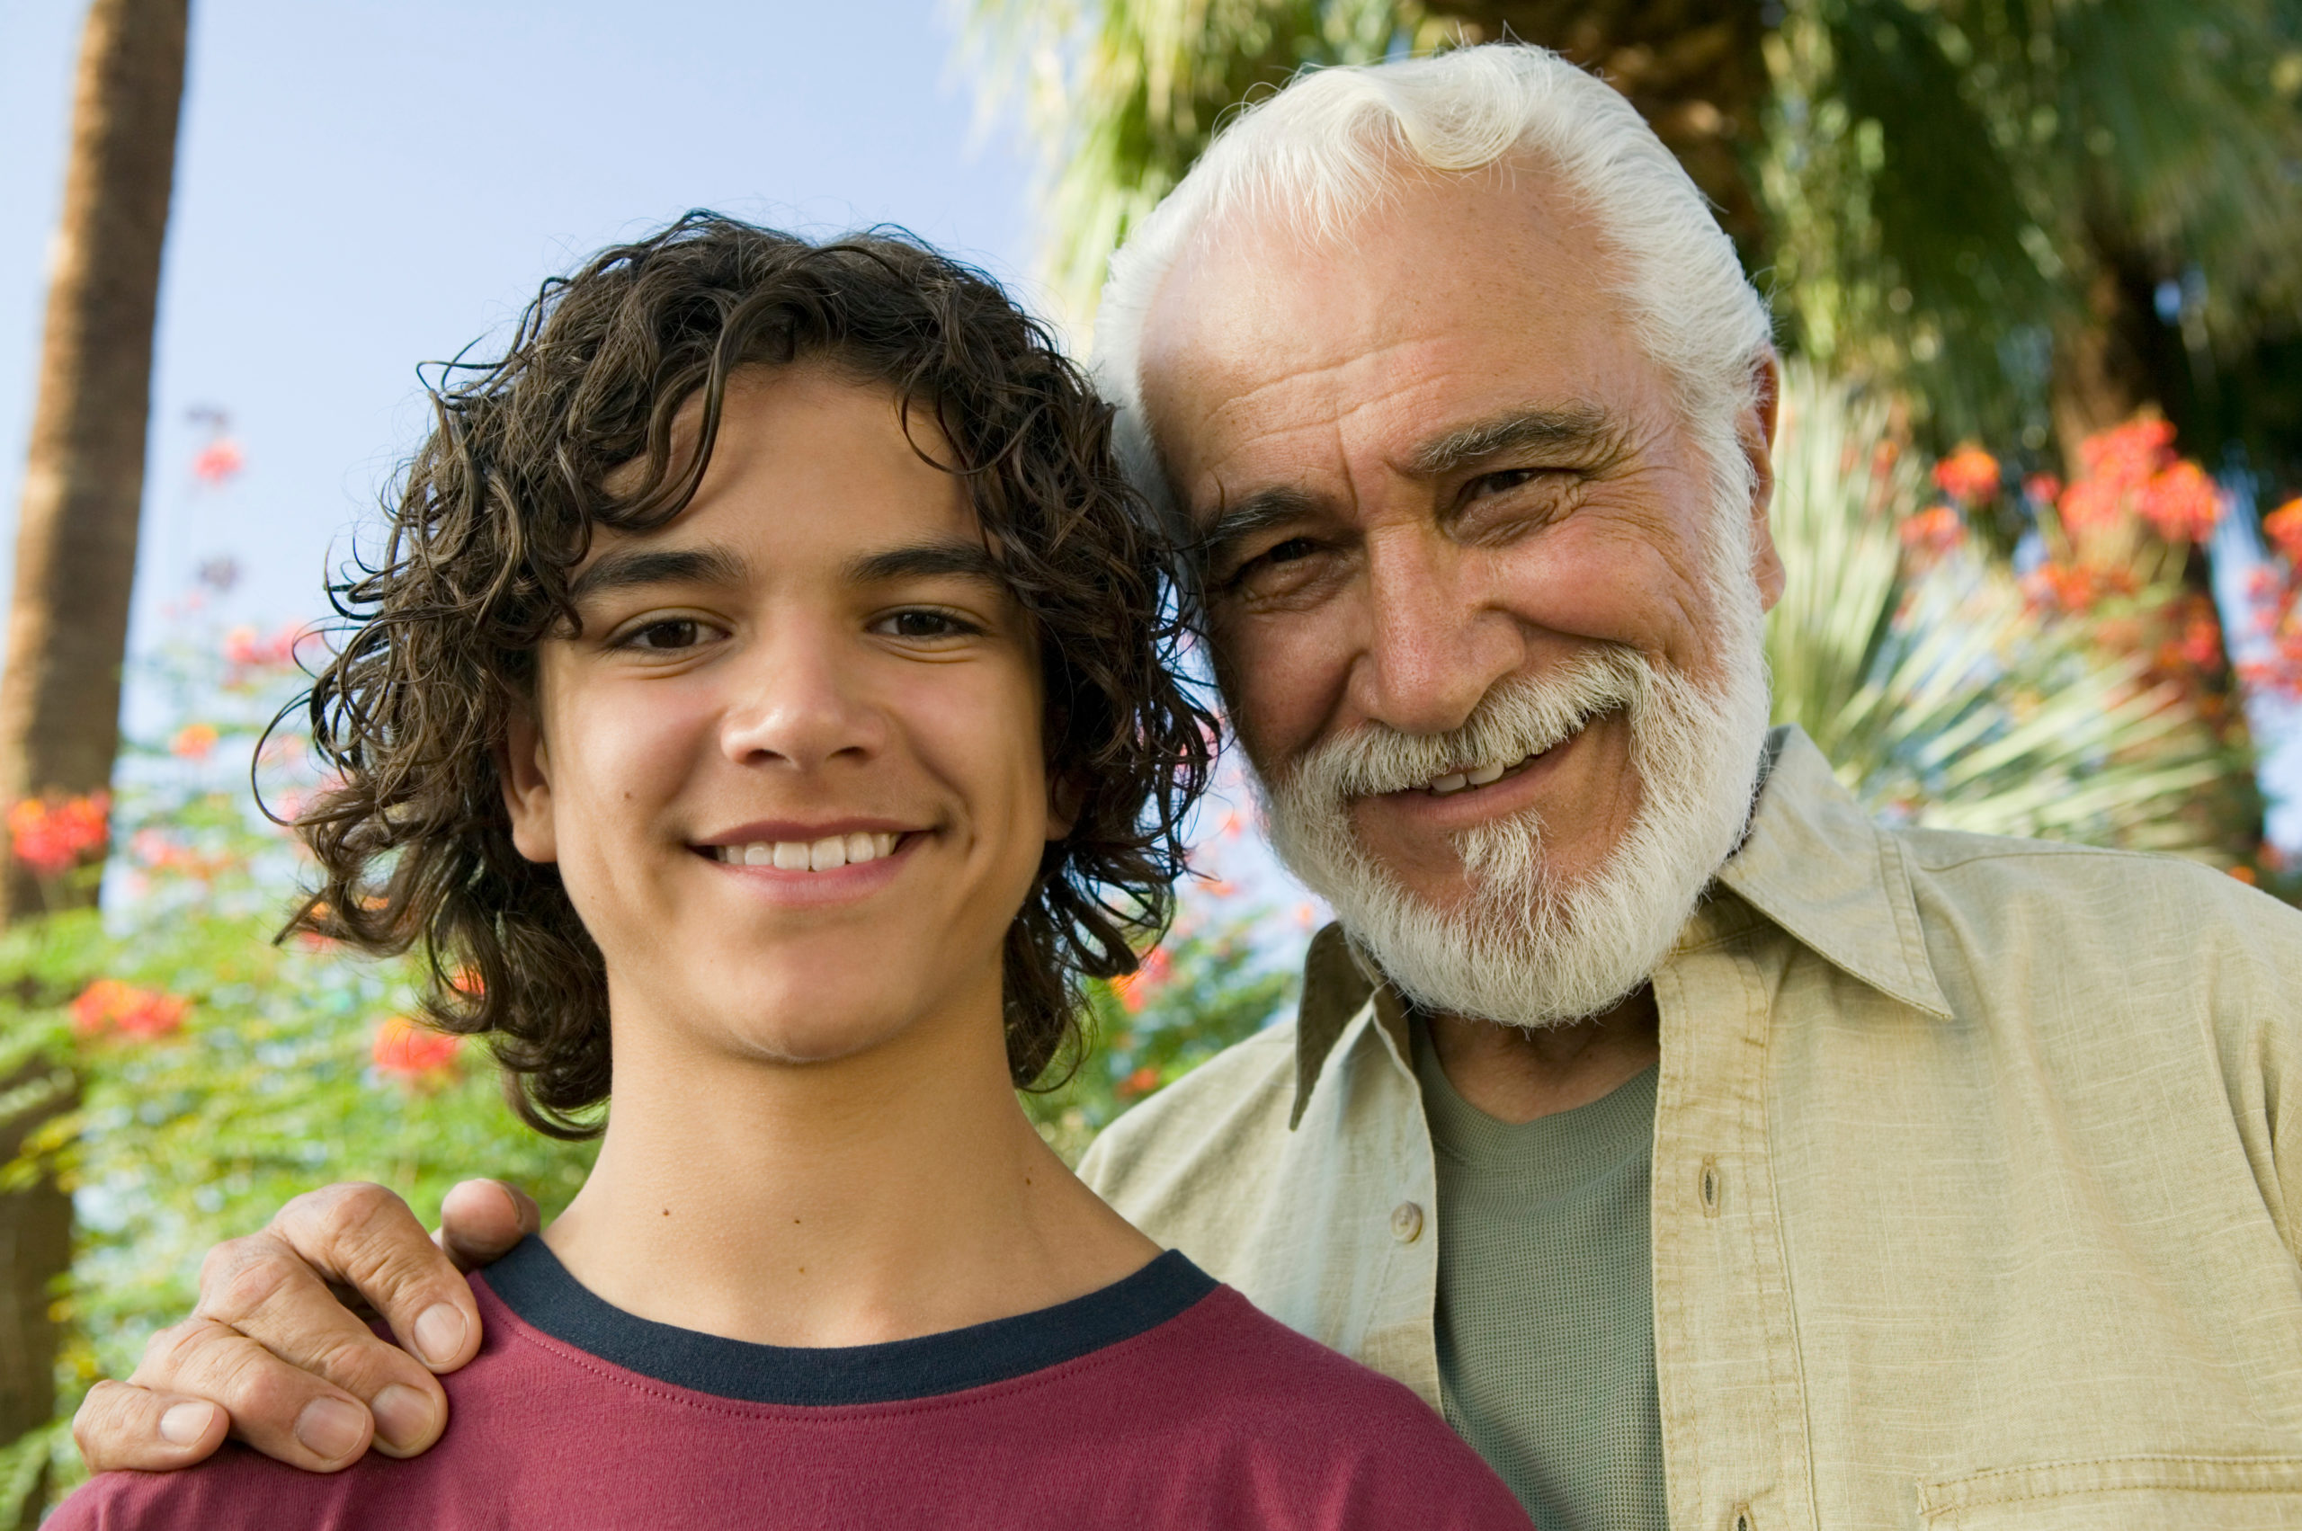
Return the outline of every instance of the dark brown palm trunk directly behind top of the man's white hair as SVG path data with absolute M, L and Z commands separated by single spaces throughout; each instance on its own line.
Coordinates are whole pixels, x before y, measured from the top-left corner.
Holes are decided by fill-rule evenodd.
M 1756 0 L 1425 0 L 1425 9 L 1459 21 L 1466 41 L 1510 35 L 1598 69 L 1717 205 L 1745 267 L 1766 262 L 1745 163 L 1768 94 Z

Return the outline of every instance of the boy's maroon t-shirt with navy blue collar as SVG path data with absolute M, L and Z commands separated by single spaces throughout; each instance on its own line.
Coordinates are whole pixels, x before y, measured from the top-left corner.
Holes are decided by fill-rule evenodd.
M 1423 1400 L 1176 1252 L 1043 1312 L 847 1349 L 651 1324 L 541 1239 L 472 1289 L 486 1342 L 442 1377 L 451 1423 L 421 1457 L 315 1476 L 226 1446 L 104 1473 L 48 1531 L 1529 1526 Z

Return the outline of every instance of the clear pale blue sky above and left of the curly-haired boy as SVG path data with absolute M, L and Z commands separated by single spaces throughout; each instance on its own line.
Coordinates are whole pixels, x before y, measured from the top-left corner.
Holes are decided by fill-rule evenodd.
M 0 564 L 81 16 L 0 7 Z M 134 642 L 214 555 L 244 569 L 221 615 L 318 615 L 329 550 L 426 426 L 414 364 L 686 207 L 895 221 L 1017 279 L 1031 152 L 976 131 L 951 41 L 937 0 L 196 0 Z M 246 454 L 226 490 L 189 472 L 203 405 Z

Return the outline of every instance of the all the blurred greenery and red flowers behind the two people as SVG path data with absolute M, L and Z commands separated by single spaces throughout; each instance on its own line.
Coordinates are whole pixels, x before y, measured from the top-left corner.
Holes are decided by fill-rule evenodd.
M 2263 817 L 2302 702 L 2302 5 L 960 9 L 962 76 L 1043 154 L 1045 292 L 1080 341 L 1114 244 L 1296 69 L 1506 35 L 1600 69 L 1779 315 L 1777 718 L 1883 817 L 2302 893 Z M 228 495 L 214 435 L 196 472 Z M 463 1174 L 552 1209 L 587 1165 L 518 1128 L 481 1052 L 403 1020 L 405 965 L 272 944 L 302 863 L 249 762 L 274 806 L 311 790 L 292 732 L 256 741 L 313 642 L 219 631 L 189 596 L 104 785 L 9 820 L 37 902 L 0 937 L 0 1220 L 53 1257 L 9 1273 L 0 1425 L 58 1420 L 0 1457 L 25 1519 L 74 1478 L 60 1420 L 184 1310 L 205 1246 L 331 1179 L 430 1218 Z M 1070 1158 L 1291 1001 L 1314 912 L 1225 882 L 1261 854 L 1238 813 L 1204 831 L 1176 930 L 1091 992 L 1098 1048 L 1024 1094 Z

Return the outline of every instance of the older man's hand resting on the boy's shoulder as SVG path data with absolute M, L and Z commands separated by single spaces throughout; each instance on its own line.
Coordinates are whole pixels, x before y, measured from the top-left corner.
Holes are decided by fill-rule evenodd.
M 260 1234 L 207 1252 L 193 1315 L 152 1335 L 134 1377 L 90 1388 L 71 1437 L 99 1473 L 191 1467 L 226 1432 L 320 1473 L 371 1444 L 412 1457 L 447 1427 L 433 1374 L 479 1354 L 479 1305 L 460 1273 L 539 1222 L 536 1204 L 500 1181 L 449 1190 L 437 1239 L 382 1186 L 302 1195 Z M 352 1301 L 398 1345 L 375 1338 Z

